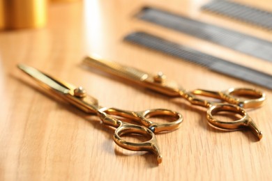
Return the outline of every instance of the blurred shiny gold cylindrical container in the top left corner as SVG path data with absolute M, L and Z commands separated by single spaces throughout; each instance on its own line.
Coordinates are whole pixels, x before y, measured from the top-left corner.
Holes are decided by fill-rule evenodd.
M 0 0 L 0 29 L 40 28 L 47 23 L 47 0 Z

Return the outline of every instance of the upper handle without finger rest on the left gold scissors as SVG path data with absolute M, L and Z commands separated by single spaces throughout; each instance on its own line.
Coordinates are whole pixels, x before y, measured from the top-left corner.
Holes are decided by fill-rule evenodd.
M 149 128 L 152 132 L 158 133 L 163 131 L 172 131 L 177 129 L 183 121 L 181 113 L 172 111 L 169 109 L 147 109 L 145 111 L 125 111 L 116 108 L 103 108 L 105 113 L 109 115 L 121 116 L 128 120 L 134 120 L 135 122 Z M 167 123 L 156 123 L 151 121 L 150 118 L 159 118 L 163 116 L 163 119 L 169 120 Z

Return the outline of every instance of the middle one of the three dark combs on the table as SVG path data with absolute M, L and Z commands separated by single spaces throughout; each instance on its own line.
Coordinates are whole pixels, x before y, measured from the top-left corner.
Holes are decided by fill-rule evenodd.
M 138 13 L 137 17 L 144 21 L 158 24 L 181 33 L 187 33 L 190 36 L 272 62 L 272 42 L 270 41 L 232 29 L 199 22 L 195 19 L 157 8 L 145 7 Z

